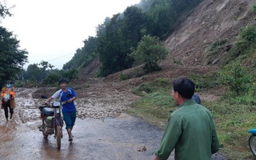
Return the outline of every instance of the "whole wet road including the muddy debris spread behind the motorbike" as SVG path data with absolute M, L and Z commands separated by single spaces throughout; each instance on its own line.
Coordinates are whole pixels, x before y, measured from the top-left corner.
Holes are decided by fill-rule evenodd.
M 138 97 L 126 85 L 90 81 L 80 83 L 87 87 L 73 87 L 78 94 L 74 141 L 68 141 L 63 129 L 61 150 L 53 136 L 44 139 L 38 130 L 40 96 L 50 96 L 56 88 L 18 88 L 14 118 L 6 122 L 0 113 L 0 159 L 153 159 L 163 130 L 123 113 Z M 224 158 L 216 154 L 212 159 Z

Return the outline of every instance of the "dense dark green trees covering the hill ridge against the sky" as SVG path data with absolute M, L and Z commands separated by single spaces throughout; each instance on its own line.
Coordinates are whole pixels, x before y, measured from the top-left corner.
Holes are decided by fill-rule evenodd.
M 85 41 L 74 58 L 63 69 L 72 67 L 82 70 L 93 58 L 98 58 L 100 67 L 97 76 L 107 76 L 134 66 L 130 54 L 144 35 L 164 40 L 190 10 L 202 0 L 142 0 L 129 6 L 122 14 L 106 18 L 97 27 L 97 36 Z M 152 51 L 154 52 L 154 51 Z M 152 63 L 147 63 L 146 66 Z M 154 65 L 156 66 L 156 65 Z M 148 66 L 150 68 L 152 66 Z

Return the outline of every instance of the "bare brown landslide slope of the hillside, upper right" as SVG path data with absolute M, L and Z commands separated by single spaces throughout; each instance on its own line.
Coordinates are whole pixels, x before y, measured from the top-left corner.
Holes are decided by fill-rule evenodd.
M 255 25 L 255 14 L 252 11 L 254 0 L 205 0 L 186 15 L 174 33 L 166 38 L 166 47 L 170 54 L 160 63 L 162 70 L 120 81 L 120 75 L 127 72 L 138 72 L 140 66 L 130 70 L 111 74 L 105 78 L 108 82 L 121 82 L 122 86 L 138 86 L 143 82 L 150 82 L 155 78 L 175 78 L 190 74 L 202 75 L 218 70 L 238 32 L 243 26 Z M 210 44 L 219 40 L 226 40 L 225 46 L 219 54 L 208 56 Z M 87 66 L 81 80 L 90 78 L 97 70 L 98 61 Z M 217 95 L 214 95 L 217 94 Z M 218 91 L 208 90 L 202 93 L 204 99 L 213 99 Z

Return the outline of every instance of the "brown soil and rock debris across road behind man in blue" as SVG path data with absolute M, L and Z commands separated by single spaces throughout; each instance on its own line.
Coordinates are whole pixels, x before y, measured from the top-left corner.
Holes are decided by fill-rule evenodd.
M 78 94 L 78 99 L 75 100 L 78 118 L 114 117 L 139 98 L 131 94 L 133 86 L 126 82 L 106 82 L 104 78 L 79 79 L 71 82 L 69 86 Z M 41 95 L 50 97 L 56 90 L 57 87 L 37 88 L 33 98 L 40 99 Z

